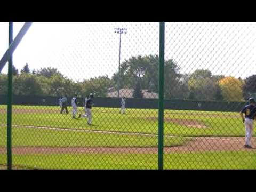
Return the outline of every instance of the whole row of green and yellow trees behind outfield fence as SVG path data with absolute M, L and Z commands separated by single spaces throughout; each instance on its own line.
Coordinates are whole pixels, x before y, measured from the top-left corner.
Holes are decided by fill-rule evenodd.
M 142 89 L 158 93 L 158 55 L 138 55 L 120 65 L 113 77 L 99 76 L 75 82 L 56 68 L 30 71 L 28 64 L 19 71 L 13 67 L 13 94 L 70 97 L 74 93 L 85 97 L 91 92 L 106 97 L 108 90 L 133 89 L 133 97 L 142 98 Z M 210 70 L 197 69 L 180 73 L 172 59 L 164 62 L 164 98 L 242 102 L 256 93 L 256 75 L 245 79 L 213 75 Z M 7 94 L 7 75 L 0 74 L 0 94 Z

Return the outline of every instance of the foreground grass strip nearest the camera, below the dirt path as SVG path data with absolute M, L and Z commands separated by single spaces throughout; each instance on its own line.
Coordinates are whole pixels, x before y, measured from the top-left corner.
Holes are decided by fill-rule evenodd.
M 6 155 L 0 154 L 4 165 Z M 253 152 L 171 153 L 164 169 L 256 169 Z M 13 155 L 23 169 L 157 169 L 157 154 L 41 154 Z

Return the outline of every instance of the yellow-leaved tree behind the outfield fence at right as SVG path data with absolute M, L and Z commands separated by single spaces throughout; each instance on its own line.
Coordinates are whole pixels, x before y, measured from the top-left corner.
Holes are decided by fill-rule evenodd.
M 242 79 L 235 77 L 225 77 L 220 79 L 219 86 L 224 101 L 241 102 L 243 98 L 243 85 Z

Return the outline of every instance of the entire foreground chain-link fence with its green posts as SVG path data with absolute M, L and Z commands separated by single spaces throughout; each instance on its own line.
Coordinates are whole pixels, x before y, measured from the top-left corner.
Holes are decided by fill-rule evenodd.
M 0 28 L 0 169 L 256 168 L 256 23 Z

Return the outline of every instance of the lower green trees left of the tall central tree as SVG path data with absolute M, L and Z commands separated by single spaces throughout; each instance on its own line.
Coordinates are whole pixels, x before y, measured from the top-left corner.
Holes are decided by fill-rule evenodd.
M 57 68 L 47 67 L 30 71 L 28 64 L 19 71 L 13 66 L 13 94 L 71 97 L 74 93 L 87 96 L 94 92 L 106 97 L 108 87 L 113 86 L 108 76 L 75 82 L 65 77 Z M 0 94 L 7 94 L 7 75 L 0 74 Z

